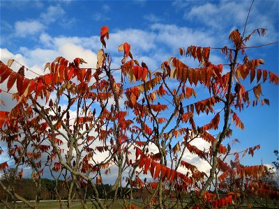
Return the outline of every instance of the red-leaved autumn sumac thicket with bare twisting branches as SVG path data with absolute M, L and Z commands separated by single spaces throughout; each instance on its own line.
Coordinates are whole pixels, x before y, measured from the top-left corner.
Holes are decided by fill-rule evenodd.
M 140 65 L 124 42 L 119 46 L 121 66 L 112 69 L 112 58 L 105 52 L 107 26 L 100 30 L 103 48 L 96 68 L 82 68 L 86 63 L 82 58 L 68 61 L 59 56 L 45 64 L 45 75 L 29 79 L 24 66 L 16 72 L 11 68 L 13 60 L 1 61 L 0 83 L 6 85 L 1 93 L 15 89 L 12 98 L 17 100 L 10 111 L 0 111 L 1 140 L 8 146 L 10 160 L 21 169 L 19 178 L 24 167 L 31 167 L 31 177 L 38 183 L 46 171 L 63 176 L 68 196 L 74 195 L 75 186 L 84 208 L 89 199 L 100 208 L 111 206 L 100 200 L 96 186 L 104 185 L 104 176 L 112 175 L 112 170 L 116 178 L 105 194 L 113 192 L 113 201 L 121 194 L 123 208 L 136 207 L 126 200 L 133 197 L 133 188 L 150 192 L 142 203 L 145 208 L 240 206 L 250 196 L 278 200 L 278 190 L 258 181 L 268 169 L 245 167 L 239 160 L 241 153 L 253 156 L 260 147 L 231 153 L 237 141 L 223 144 L 232 136 L 233 125 L 244 130 L 239 111 L 251 104 L 269 104 L 262 98 L 261 85 L 279 84 L 278 75 L 259 68 L 264 65 L 262 59 L 243 55 L 243 61 L 238 61 L 257 31 L 264 36 L 264 29 L 246 37 L 237 30 L 229 34 L 233 47 L 219 49 L 227 65 L 211 63 L 211 51 L 216 49 L 192 45 L 179 52 L 197 59 L 198 68 L 170 57 L 160 70 L 153 70 Z M 119 79 L 114 77 L 117 70 Z M 246 79 L 251 88 L 244 85 Z M 198 95 L 197 86 L 206 89 L 205 97 Z M 197 123 L 202 113 L 210 119 Z M 197 140 L 206 141 L 209 148 L 198 148 L 193 144 Z M 201 171 L 185 155 L 208 162 L 211 170 Z M 0 171 L 8 167 L 8 162 L 1 162 Z M 87 189 L 93 190 L 89 199 Z

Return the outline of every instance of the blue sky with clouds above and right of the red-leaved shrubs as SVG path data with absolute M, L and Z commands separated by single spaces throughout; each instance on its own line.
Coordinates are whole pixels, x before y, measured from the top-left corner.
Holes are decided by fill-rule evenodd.
M 123 42 L 128 42 L 133 56 L 151 70 L 159 68 L 170 56 L 197 67 L 196 61 L 179 56 L 179 47 L 232 46 L 229 33 L 234 29 L 243 31 L 251 2 L 1 1 L 1 61 L 15 59 L 39 74 L 43 74 L 45 63 L 56 56 L 70 61 L 80 57 L 88 62 L 84 67 L 95 68 L 96 53 L 101 47 L 100 28 L 107 25 L 107 50 L 116 68 L 121 64 L 123 54 L 118 53 L 118 47 Z M 278 1 L 255 1 L 246 35 L 259 27 L 267 31 L 264 37 L 253 36 L 248 46 L 279 40 L 278 11 Z M 278 74 L 278 44 L 250 49 L 247 54 L 250 59 L 264 59 L 262 68 Z M 211 61 L 227 63 L 220 50 L 211 51 Z M 27 77 L 34 76 L 27 72 Z M 271 164 L 275 160 L 273 150 L 278 149 L 278 86 L 265 84 L 262 88 L 271 106 L 248 107 L 241 112 L 246 130 L 234 129 L 232 137 L 241 141 L 234 150 L 261 145 L 253 158 L 243 159 L 244 164 L 259 164 L 261 160 Z M 2 100 L 8 98 L 1 94 Z

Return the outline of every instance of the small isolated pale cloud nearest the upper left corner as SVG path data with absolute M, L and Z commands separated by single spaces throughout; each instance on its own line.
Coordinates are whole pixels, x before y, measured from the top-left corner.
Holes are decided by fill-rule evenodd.
M 15 22 L 15 35 L 26 37 L 40 33 L 45 29 L 45 26 L 37 20 L 17 21 Z

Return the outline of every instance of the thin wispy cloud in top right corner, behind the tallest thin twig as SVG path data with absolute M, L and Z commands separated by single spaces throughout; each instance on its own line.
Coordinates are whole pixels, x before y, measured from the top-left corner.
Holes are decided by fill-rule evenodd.
M 250 5 L 250 1 L 220 1 L 220 3 L 200 4 L 187 10 L 183 18 L 202 22 L 214 31 L 216 39 L 221 39 L 225 33 L 228 36 L 229 32 L 234 29 L 239 29 L 242 34 Z M 262 15 L 260 10 L 263 9 L 263 6 L 266 7 L 264 9 L 271 11 Z M 267 29 L 268 33 L 265 38 L 255 38 L 250 44 L 255 45 L 276 40 L 278 38 L 278 31 L 275 29 L 276 20 L 278 20 L 278 1 L 270 1 L 267 4 L 255 1 L 248 18 L 246 36 L 257 28 Z

